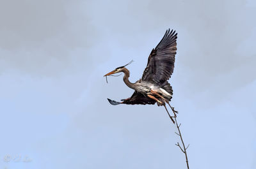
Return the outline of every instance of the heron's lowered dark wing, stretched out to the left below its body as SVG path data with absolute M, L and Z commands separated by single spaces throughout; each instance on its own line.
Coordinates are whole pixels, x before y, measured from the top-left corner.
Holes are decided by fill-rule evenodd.
M 119 105 L 121 102 L 108 99 L 109 103 L 111 105 Z M 127 105 L 154 105 L 156 101 L 154 99 L 150 99 L 147 96 L 144 96 L 140 92 L 134 92 L 131 96 L 131 98 L 128 99 L 122 99 L 122 104 Z

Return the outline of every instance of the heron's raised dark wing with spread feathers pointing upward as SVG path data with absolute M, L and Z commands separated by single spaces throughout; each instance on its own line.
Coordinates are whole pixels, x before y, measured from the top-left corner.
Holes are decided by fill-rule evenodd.
M 177 50 L 176 40 L 177 33 L 168 29 L 163 39 L 150 53 L 147 68 L 145 68 L 141 80 L 162 85 L 171 77 Z

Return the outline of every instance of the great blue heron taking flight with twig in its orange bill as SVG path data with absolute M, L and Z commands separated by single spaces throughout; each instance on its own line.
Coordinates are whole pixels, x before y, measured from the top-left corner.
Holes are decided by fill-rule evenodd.
M 176 43 L 177 33 L 168 29 L 164 34 L 162 40 L 151 51 L 148 57 L 147 68 L 145 68 L 142 78 L 135 83 L 129 81 L 129 70 L 125 66 L 120 66 L 115 70 L 107 73 L 104 77 L 113 75 L 118 72 L 124 72 L 125 84 L 134 89 L 134 93 L 131 98 L 121 99 L 122 102 L 108 99 L 111 105 L 127 104 L 127 105 L 154 105 L 157 103 L 158 106 L 164 106 L 170 119 L 172 116 L 169 114 L 165 103 L 169 106 L 169 101 L 172 99 L 172 86 L 168 83 L 169 78 L 173 73 L 175 54 L 176 54 Z M 174 117 L 175 110 L 172 108 Z M 172 119 L 172 122 L 175 123 Z

